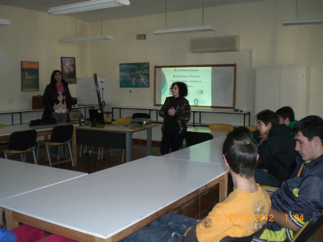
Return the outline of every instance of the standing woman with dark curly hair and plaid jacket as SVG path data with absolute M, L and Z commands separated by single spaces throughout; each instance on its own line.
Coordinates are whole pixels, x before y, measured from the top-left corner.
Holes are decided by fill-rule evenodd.
M 179 150 L 185 138 L 187 122 L 191 118 L 191 106 L 185 98 L 188 94 L 187 85 L 183 82 L 172 84 L 171 97 L 167 97 L 164 105 L 159 110 L 159 115 L 164 117 L 163 138 L 161 139 L 161 154 Z

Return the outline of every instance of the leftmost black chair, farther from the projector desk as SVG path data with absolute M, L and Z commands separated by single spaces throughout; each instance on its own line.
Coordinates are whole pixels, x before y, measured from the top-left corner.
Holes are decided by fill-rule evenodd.
M 5 154 L 6 159 L 9 155 L 20 154 L 21 161 L 26 162 L 26 153 L 32 151 L 35 164 L 37 164 L 35 156 L 36 138 L 37 132 L 35 130 L 13 132 L 10 135 L 9 144 L 1 146 L 0 152 Z

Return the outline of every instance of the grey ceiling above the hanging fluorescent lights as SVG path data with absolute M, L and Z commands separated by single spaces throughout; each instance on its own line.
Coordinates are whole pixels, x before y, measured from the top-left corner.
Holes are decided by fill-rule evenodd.
M 166 0 L 165 0 L 166 1 Z M 130 0 L 127 7 L 118 7 L 105 9 L 101 11 L 89 11 L 76 14 L 78 19 L 87 22 L 95 22 L 101 19 L 101 13 L 104 20 L 121 19 L 128 17 L 138 17 L 151 14 L 165 13 L 165 1 L 163 0 Z M 263 0 L 204 0 L 204 7 L 214 7 L 220 5 L 230 5 L 248 2 L 259 2 Z M 31 9 L 41 12 L 47 12 L 49 8 L 58 7 L 67 4 L 85 2 L 84 0 L 0 0 L 0 5 Z M 168 0 L 167 12 L 176 12 L 191 9 L 200 9 L 203 6 L 203 0 Z M 70 15 L 75 16 L 75 14 Z M 1 16 L 0 16 L 1 18 Z

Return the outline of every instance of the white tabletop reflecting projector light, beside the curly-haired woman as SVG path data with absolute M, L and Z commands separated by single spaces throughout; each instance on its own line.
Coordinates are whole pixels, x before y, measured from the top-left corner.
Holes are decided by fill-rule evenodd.
M 221 164 L 225 167 L 222 158 L 222 146 L 225 139 L 226 136 L 220 136 L 218 138 L 166 154 L 164 157 Z

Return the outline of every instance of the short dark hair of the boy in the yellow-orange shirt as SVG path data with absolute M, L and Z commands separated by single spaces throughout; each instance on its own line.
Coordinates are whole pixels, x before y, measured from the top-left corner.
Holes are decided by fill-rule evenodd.
M 250 130 L 239 127 L 230 132 L 223 143 L 222 153 L 233 172 L 246 178 L 253 176 L 258 148 Z

